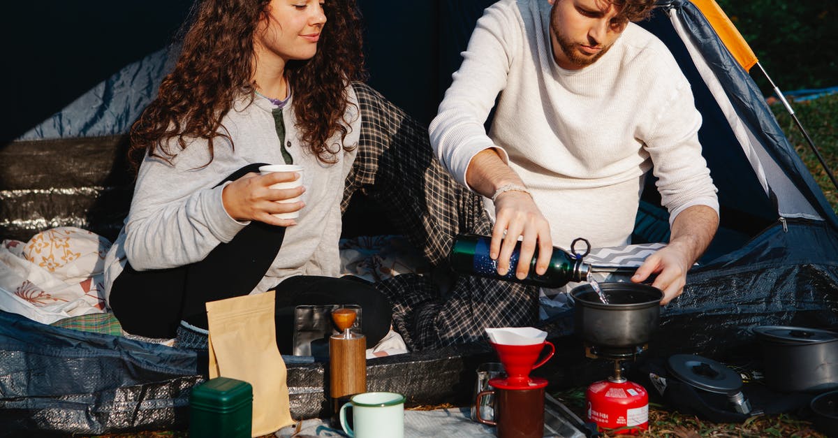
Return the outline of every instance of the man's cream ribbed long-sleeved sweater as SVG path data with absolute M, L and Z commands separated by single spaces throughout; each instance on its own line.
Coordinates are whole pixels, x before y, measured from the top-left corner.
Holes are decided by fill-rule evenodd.
M 562 69 L 552 55 L 550 9 L 547 0 L 502 0 L 478 20 L 431 123 L 442 164 L 466 185 L 473 156 L 497 148 L 562 248 L 576 237 L 597 248 L 629 243 L 653 163 L 670 222 L 689 206 L 717 212 L 698 142 L 701 115 L 670 51 L 629 23 L 595 63 Z

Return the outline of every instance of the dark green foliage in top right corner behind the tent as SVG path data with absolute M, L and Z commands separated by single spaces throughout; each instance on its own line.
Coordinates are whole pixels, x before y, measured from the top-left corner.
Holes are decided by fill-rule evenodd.
M 838 2 L 717 0 L 783 91 L 838 85 Z M 756 69 L 756 68 L 755 68 Z M 772 94 L 752 70 L 763 94 Z

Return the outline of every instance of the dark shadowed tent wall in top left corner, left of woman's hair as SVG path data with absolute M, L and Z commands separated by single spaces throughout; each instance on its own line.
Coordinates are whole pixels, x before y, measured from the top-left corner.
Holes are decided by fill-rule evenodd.
M 0 143 L 18 138 L 123 66 L 165 47 L 192 3 L 4 2 Z

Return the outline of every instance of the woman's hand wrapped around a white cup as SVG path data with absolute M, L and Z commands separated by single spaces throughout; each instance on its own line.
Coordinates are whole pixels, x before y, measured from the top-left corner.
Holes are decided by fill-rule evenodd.
M 296 225 L 293 219 L 279 219 L 274 213 L 290 213 L 298 211 L 305 203 L 303 201 L 279 203 L 303 194 L 303 185 L 292 189 L 273 190 L 272 185 L 297 180 L 297 172 L 272 172 L 267 175 L 249 173 L 238 180 L 225 185 L 221 194 L 224 209 L 236 221 L 259 221 L 279 227 Z

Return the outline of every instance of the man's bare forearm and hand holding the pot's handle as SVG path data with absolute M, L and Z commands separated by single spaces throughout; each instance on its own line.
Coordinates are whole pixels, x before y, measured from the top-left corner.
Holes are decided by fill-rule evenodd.
M 646 258 L 631 280 L 640 283 L 657 273 L 652 285 L 664 291 L 660 304 L 669 303 L 684 291 L 687 271 L 710 245 L 718 226 L 719 216 L 708 206 L 691 206 L 681 211 L 672 222 L 670 243 Z

